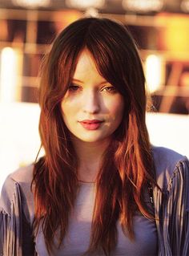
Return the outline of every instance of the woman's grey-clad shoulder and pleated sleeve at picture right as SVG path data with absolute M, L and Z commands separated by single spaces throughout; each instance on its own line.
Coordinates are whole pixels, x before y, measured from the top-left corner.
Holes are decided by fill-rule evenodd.
M 159 256 L 189 255 L 189 162 L 167 148 L 154 148 L 154 204 Z

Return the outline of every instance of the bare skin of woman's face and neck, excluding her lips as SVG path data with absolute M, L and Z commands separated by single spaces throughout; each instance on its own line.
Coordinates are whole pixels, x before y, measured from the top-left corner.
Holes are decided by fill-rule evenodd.
M 123 118 L 123 96 L 97 71 L 90 52 L 78 58 L 72 85 L 62 103 L 62 118 L 69 129 L 78 155 L 78 179 L 94 181 L 104 150 Z M 82 120 L 100 120 L 99 127 L 87 129 Z

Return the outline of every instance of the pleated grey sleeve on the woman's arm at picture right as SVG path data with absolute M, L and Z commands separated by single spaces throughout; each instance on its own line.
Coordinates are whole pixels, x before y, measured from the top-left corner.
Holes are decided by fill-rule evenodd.
M 163 235 L 172 255 L 189 255 L 189 162 L 179 161 L 167 186 Z M 166 246 L 166 243 L 165 243 Z

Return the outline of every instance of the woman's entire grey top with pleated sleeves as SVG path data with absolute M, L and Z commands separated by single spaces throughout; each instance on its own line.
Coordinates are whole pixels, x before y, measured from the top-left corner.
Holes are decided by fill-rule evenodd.
M 189 162 L 185 156 L 167 148 L 154 148 L 153 153 L 156 180 L 163 190 L 161 193 L 155 188 L 153 192 L 156 223 L 136 213 L 135 246 L 123 235 L 118 223 L 119 242 L 112 255 L 189 255 Z M 2 255 L 34 255 L 34 241 L 38 255 L 48 255 L 42 232 L 37 238 L 31 238 L 34 221 L 34 197 L 30 192 L 32 173 L 33 165 L 18 169 L 7 177 L 2 187 Z M 69 235 L 64 239 L 64 250 L 54 255 L 82 255 L 86 250 L 93 204 L 94 186 L 81 184 L 74 213 L 70 217 Z M 85 225 L 82 225 L 83 221 Z M 78 245 L 81 251 L 78 251 Z

